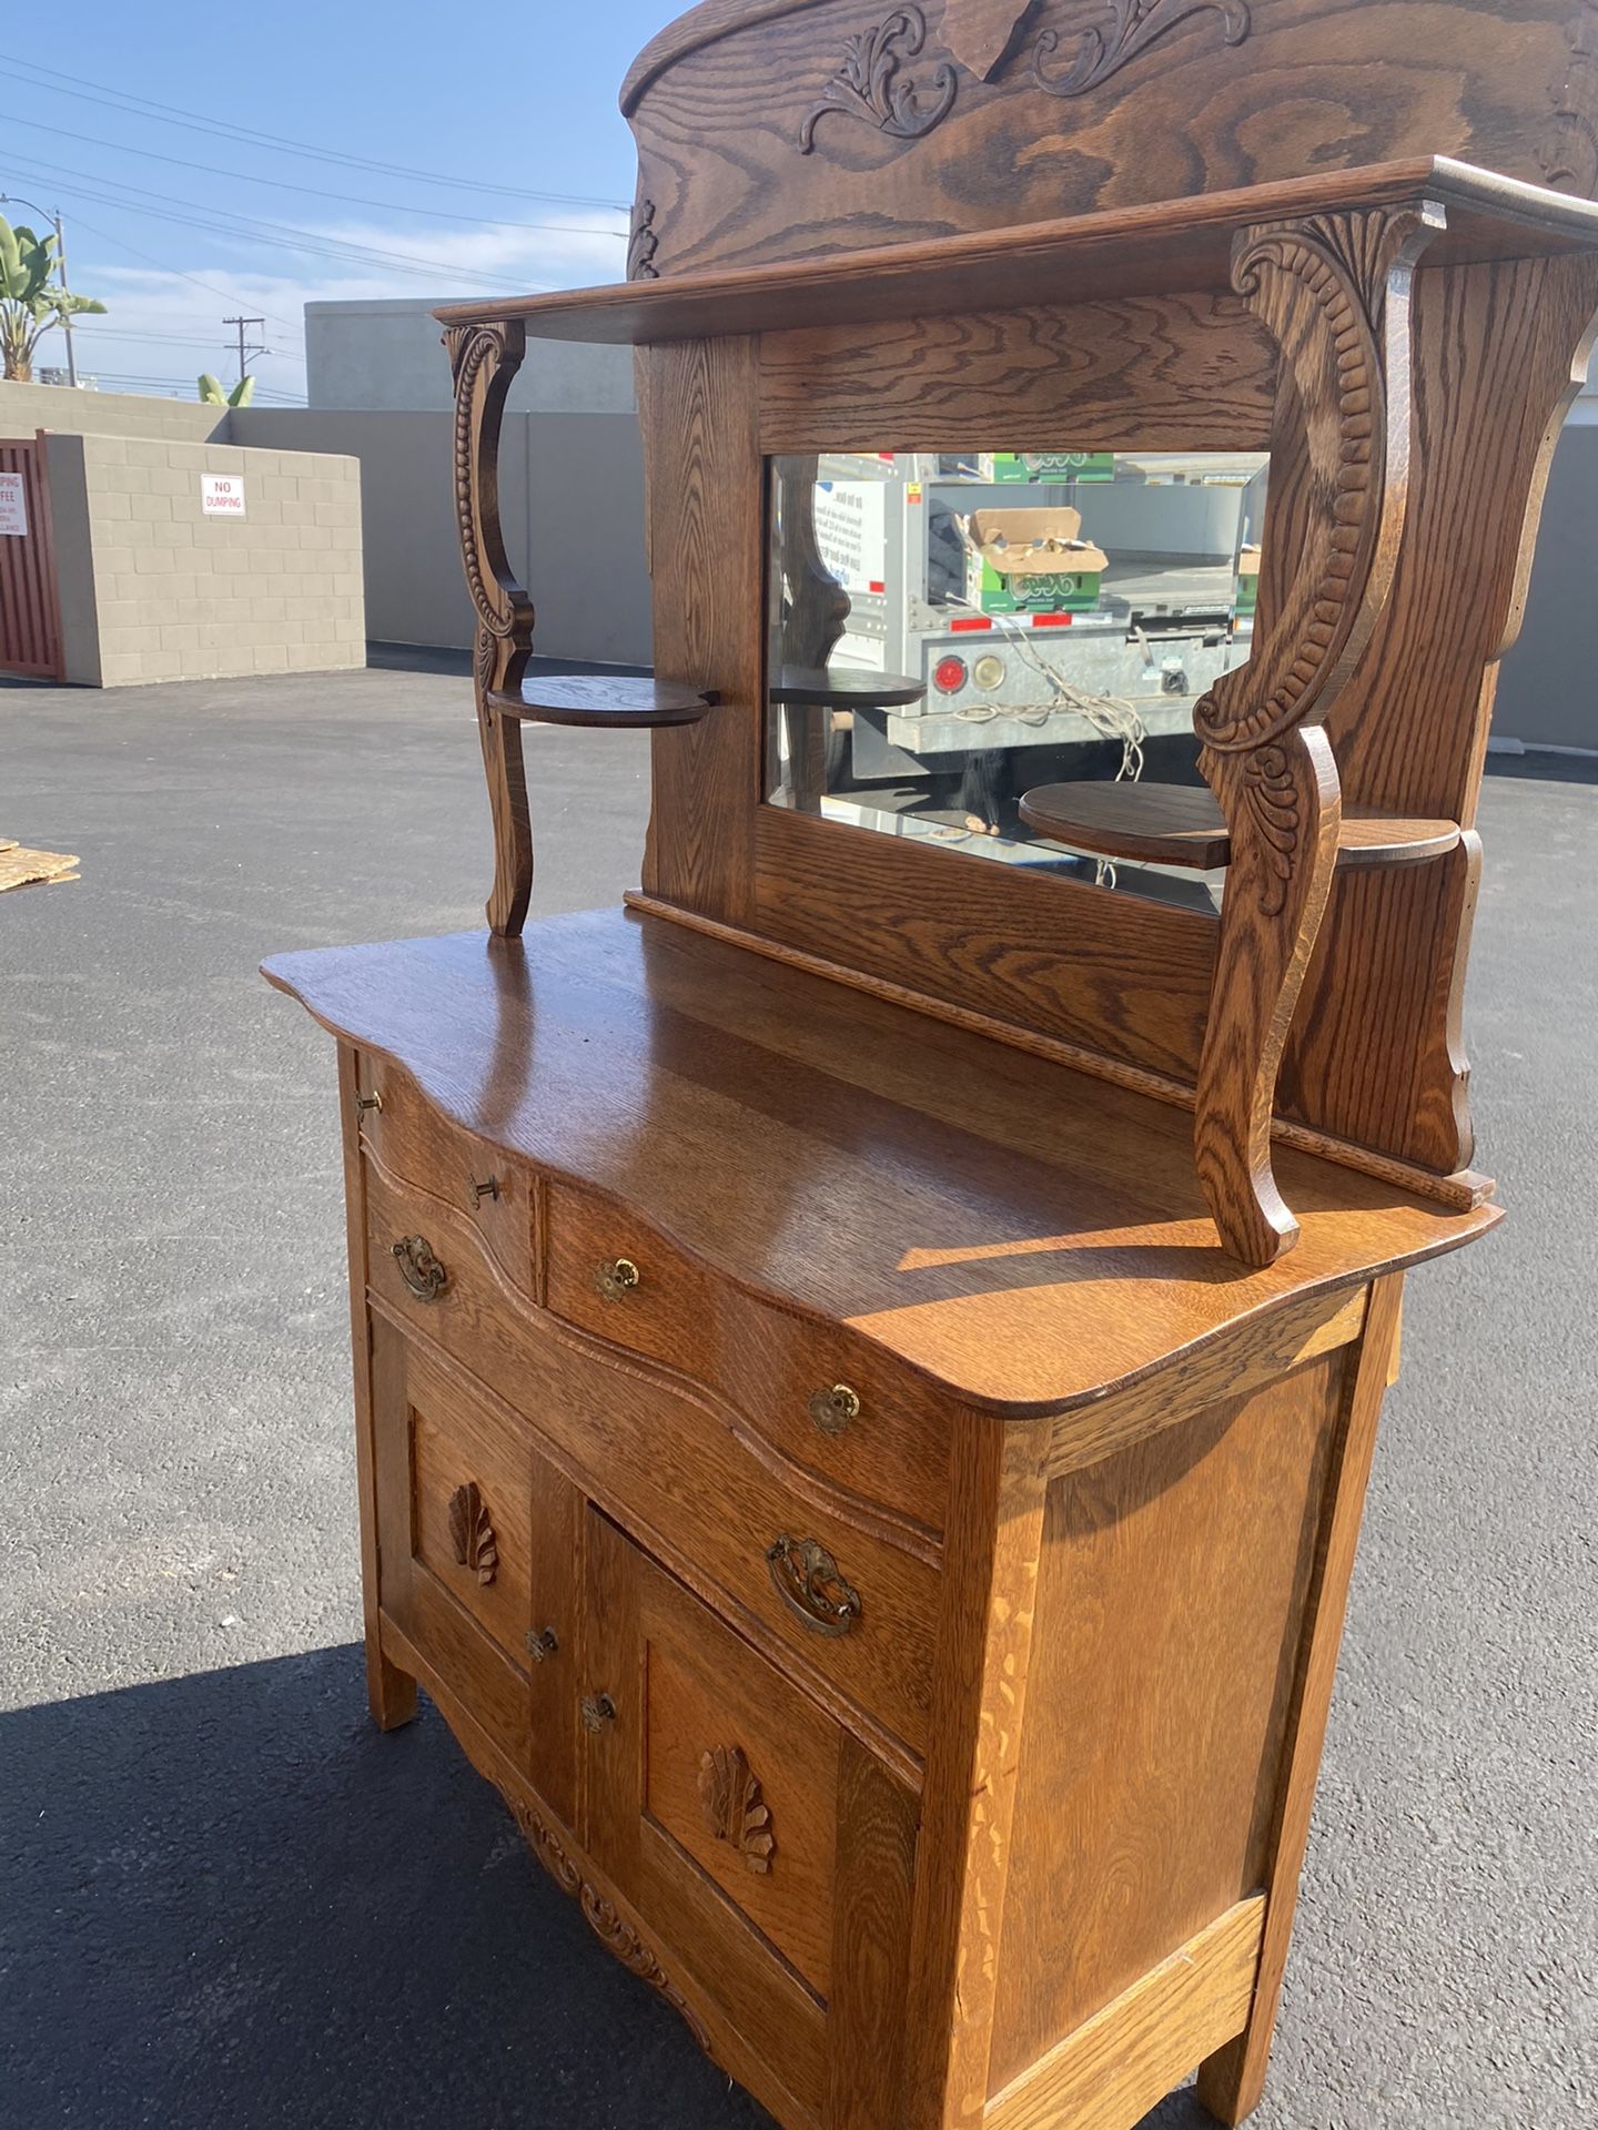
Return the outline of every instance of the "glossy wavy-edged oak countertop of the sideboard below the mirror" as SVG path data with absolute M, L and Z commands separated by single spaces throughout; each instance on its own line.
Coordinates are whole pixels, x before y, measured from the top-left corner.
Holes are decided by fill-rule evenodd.
M 1249 1272 L 1204 1210 L 1185 1110 L 629 912 L 264 976 L 467 1129 L 1006 1414 L 1085 1404 L 1498 1220 L 1278 1148 L 1302 1238 Z

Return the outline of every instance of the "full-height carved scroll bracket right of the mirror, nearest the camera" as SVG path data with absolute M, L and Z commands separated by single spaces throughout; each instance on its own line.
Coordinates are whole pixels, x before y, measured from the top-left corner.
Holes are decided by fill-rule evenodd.
M 1276 1071 L 1338 856 L 1319 720 L 1393 581 L 1411 449 L 1411 281 L 1442 209 L 1308 215 L 1234 243 L 1232 281 L 1283 351 L 1255 645 L 1193 709 L 1232 831 L 1195 1154 L 1221 1240 L 1268 1265 L 1298 1240 L 1270 1163 Z

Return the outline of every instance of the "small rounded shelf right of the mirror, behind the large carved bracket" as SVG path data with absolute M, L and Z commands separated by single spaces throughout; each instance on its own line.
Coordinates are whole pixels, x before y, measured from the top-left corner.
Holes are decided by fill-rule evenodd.
M 1232 837 L 1204 784 L 1040 784 L 1021 801 L 1038 835 L 1104 858 L 1187 865 L 1208 873 L 1232 861 Z M 1402 820 L 1344 807 L 1338 865 L 1419 865 L 1460 841 L 1453 820 Z

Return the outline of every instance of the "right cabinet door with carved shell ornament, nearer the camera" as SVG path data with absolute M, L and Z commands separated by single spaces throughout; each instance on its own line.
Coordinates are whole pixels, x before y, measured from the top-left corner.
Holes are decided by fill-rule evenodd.
M 886 2126 L 914 1796 L 597 1510 L 582 1717 L 594 1859 L 795 2113 Z

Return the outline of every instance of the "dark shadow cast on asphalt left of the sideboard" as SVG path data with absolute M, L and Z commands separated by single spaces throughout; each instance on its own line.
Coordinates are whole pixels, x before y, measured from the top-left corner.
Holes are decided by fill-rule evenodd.
M 358 1646 L 0 1717 L 0 1872 L 6 2124 L 767 2124 Z

